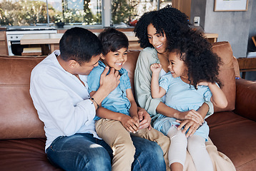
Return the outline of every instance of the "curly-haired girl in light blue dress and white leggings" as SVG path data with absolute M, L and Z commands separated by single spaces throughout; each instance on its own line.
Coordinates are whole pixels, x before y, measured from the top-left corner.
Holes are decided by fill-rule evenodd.
M 184 38 L 171 47 L 169 55 L 169 73 L 159 81 L 162 65 L 154 63 L 152 70 L 152 98 L 166 95 L 165 104 L 179 110 L 197 110 L 205 101 L 211 100 L 219 108 L 227 106 L 227 98 L 217 86 L 220 57 L 212 53 L 210 43 L 195 31 L 189 31 Z M 202 115 L 205 118 L 205 115 Z M 167 135 L 172 143 L 169 148 L 171 170 L 183 170 L 186 150 L 192 155 L 195 167 L 200 170 L 213 170 L 212 161 L 205 147 L 209 135 L 206 121 L 202 125 L 183 122 L 176 118 L 159 115 L 154 120 L 154 128 Z M 187 135 L 182 127 L 189 129 Z M 195 134 L 194 134 L 195 133 Z

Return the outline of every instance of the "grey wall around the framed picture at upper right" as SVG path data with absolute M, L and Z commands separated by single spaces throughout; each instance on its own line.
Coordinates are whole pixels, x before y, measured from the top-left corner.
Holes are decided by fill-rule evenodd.
M 200 28 L 207 33 L 218 33 L 217 41 L 229 41 L 236 58 L 247 57 L 255 51 L 252 35 L 256 35 L 256 0 L 248 0 L 247 11 L 215 12 L 215 0 L 192 0 L 191 19 L 200 16 Z M 246 79 L 255 81 L 256 71 L 247 72 Z

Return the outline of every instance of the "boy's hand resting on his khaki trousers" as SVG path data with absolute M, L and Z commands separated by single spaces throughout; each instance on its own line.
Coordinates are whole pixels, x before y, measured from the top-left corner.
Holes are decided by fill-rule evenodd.
M 120 122 L 130 133 L 136 133 L 139 130 L 139 118 L 137 116 L 122 115 Z

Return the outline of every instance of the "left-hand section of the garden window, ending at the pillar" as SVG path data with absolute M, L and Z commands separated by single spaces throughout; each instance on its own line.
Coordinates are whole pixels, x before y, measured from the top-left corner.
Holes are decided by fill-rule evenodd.
M 102 1 L 0 0 L 1 26 L 40 26 L 60 21 L 70 25 L 101 25 Z

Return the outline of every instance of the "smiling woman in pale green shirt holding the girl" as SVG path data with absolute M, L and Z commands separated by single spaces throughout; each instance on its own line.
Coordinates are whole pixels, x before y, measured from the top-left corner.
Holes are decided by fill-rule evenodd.
M 159 78 L 168 72 L 167 43 L 168 46 L 172 46 L 175 41 L 179 40 L 184 33 L 191 29 L 189 26 L 187 16 L 171 6 L 166 6 L 159 11 L 147 12 L 139 19 L 134 32 L 139 38 L 140 46 L 144 49 L 139 54 L 137 60 L 134 73 L 134 89 L 137 103 L 139 103 L 140 107 L 147 110 L 152 116 L 153 122 L 159 113 L 168 117 L 178 118 L 185 122 L 184 130 L 189 129 L 187 134 L 192 135 L 198 128 L 195 125 L 202 124 L 203 122 L 200 113 L 207 113 L 208 116 L 213 113 L 212 103 L 204 103 L 197 111 L 179 112 L 165 105 L 163 103 L 164 98 L 152 98 L 150 90 L 152 80 L 150 66 L 153 63 L 161 63 L 162 71 L 159 74 Z M 215 170 L 235 170 L 231 160 L 217 152 L 217 148 L 211 141 L 207 142 L 206 147 Z M 195 165 L 188 152 L 184 170 L 195 170 Z

